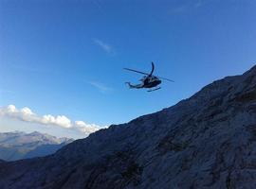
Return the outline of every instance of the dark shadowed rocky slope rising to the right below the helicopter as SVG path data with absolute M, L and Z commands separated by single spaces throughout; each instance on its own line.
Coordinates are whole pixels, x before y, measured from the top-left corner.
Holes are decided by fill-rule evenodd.
M 0 163 L 1 188 L 255 188 L 256 67 L 54 155 Z

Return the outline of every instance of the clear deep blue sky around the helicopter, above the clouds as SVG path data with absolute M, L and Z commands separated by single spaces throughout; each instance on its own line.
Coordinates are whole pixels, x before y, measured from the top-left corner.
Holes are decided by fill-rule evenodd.
M 160 111 L 255 64 L 255 9 L 254 0 L 0 0 L 0 106 L 98 126 Z M 141 76 L 122 68 L 149 71 L 152 60 L 175 82 L 127 89 Z M 0 131 L 19 129 L 3 120 Z

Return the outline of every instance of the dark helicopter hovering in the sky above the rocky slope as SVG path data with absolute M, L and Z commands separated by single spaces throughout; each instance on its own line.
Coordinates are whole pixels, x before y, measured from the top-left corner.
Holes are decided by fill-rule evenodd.
M 138 74 L 145 75 L 144 77 L 139 79 L 141 81 L 141 83 L 139 83 L 139 84 L 135 85 L 135 84 L 131 84 L 130 82 L 125 82 L 126 84 L 128 84 L 130 89 L 147 88 L 147 89 L 150 89 L 148 92 L 153 92 L 153 91 L 161 89 L 161 87 L 157 87 L 159 84 L 161 84 L 161 82 L 162 82 L 161 79 L 165 79 L 165 80 L 174 82 L 174 80 L 169 79 L 169 78 L 154 76 L 153 72 L 155 70 L 155 64 L 154 64 L 153 61 L 151 62 L 151 64 L 152 64 L 152 70 L 151 70 L 150 74 L 140 72 L 140 71 L 137 71 L 137 70 L 133 70 L 133 69 L 130 69 L 130 68 L 123 68 L 124 70 L 128 70 L 128 71 L 136 72 Z

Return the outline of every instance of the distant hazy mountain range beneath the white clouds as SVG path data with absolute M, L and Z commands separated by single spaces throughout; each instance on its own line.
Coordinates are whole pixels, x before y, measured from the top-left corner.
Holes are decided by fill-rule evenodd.
M 0 133 L 0 159 L 15 161 L 25 158 L 41 157 L 54 153 L 71 139 L 57 138 L 37 131 Z

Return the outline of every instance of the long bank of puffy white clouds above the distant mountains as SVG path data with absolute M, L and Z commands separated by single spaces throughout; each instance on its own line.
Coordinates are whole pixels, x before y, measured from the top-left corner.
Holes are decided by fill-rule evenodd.
M 84 134 L 90 134 L 97 131 L 98 129 L 102 129 L 100 126 L 95 124 L 86 124 L 83 121 L 72 122 L 64 115 L 53 116 L 51 114 L 46 114 L 40 116 L 32 112 L 27 107 L 19 110 L 14 105 L 9 105 L 8 107 L 0 107 L 0 117 L 1 116 L 18 119 L 24 122 L 31 122 L 47 126 L 57 126 L 64 129 L 76 129 Z

